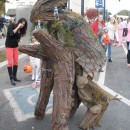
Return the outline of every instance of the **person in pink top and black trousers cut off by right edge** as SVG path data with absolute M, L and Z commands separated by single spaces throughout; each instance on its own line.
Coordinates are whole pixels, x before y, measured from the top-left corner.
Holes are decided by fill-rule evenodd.
M 127 26 L 127 36 L 126 36 L 126 43 L 127 43 L 127 63 L 128 67 L 130 67 L 130 17 L 128 18 L 128 26 Z

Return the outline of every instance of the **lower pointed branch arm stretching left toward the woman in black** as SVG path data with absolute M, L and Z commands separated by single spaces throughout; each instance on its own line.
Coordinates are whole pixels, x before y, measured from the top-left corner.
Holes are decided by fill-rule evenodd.
M 40 45 L 22 45 L 19 46 L 19 51 L 40 59 L 47 59 Z

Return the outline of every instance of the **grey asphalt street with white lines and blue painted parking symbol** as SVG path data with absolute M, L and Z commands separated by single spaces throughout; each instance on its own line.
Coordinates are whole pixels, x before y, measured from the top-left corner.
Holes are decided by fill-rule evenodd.
M 95 130 L 129 130 L 130 129 L 130 69 L 126 62 L 126 43 L 123 47 L 112 46 L 112 63 L 106 63 L 103 73 L 98 73 L 95 81 L 113 96 L 116 93 L 121 101 L 111 101 L 101 119 L 101 127 Z M 51 130 L 51 113 L 53 95 L 51 95 L 43 120 L 33 116 L 39 87 L 31 87 L 31 74 L 23 71 L 28 63 L 27 57 L 19 59 L 18 77 L 21 83 L 11 86 L 6 67 L 0 69 L 0 130 Z M 1 63 L 0 63 L 1 64 Z M 76 115 L 69 121 L 69 130 L 80 130 L 79 125 L 86 112 L 81 105 Z M 91 130 L 91 129 L 90 129 Z

